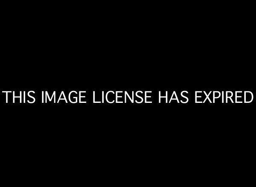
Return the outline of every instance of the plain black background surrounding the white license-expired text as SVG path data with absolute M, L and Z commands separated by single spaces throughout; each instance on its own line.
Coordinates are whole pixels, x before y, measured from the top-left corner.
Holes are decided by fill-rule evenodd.
M 255 94 L 247 7 L 42 7 L 3 13 L 1 91 L 152 90 L 154 104 L 2 102 L 5 176 L 131 184 L 250 178 L 255 101 L 196 105 L 193 96 Z M 183 90 L 187 105 L 157 104 L 157 91 Z

